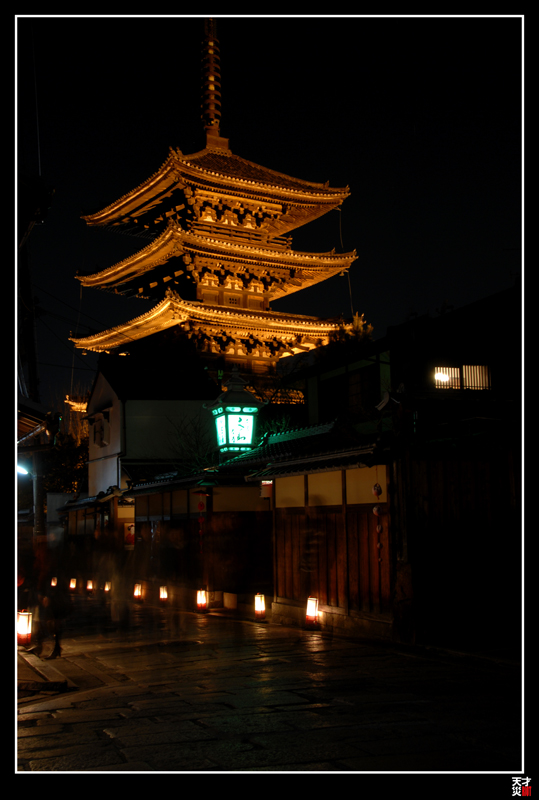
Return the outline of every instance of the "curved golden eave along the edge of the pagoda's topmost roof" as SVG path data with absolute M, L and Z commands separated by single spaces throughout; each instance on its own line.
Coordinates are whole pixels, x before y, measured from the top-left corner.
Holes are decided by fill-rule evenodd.
M 194 163 L 196 157 L 200 155 L 182 156 L 179 151 L 171 151 L 164 164 L 150 178 L 106 208 L 95 214 L 84 215 L 82 219 L 89 225 L 113 224 L 122 217 L 135 214 L 142 206 L 151 204 L 154 199 L 156 203 L 159 202 L 158 195 L 183 183 L 206 189 L 224 190 L 231 196 L 256 202 L 273 201 L 314 206 L 315 209 L 319 209 L 315 216 L 341 205 L 350 194 L 348 187 L 333 189 L 323 184 L 291 178 L 269 169 L 263 170 L 268 176 L 267 182 L 228 175 Z M 236 158 L 249 166 L 257 166 L 239 156 Z M 297 186 L 282 185 L 283 181 L 293 182 Z

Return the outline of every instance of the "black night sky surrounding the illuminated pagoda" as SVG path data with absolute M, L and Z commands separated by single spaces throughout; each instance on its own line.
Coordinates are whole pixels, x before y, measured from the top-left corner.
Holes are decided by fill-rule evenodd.
M 512 286 L 521 266 L 520 17 L 218 17 L 221 134 L 234 153 L 349 186 L 342 211 L 293 233 L 298 250 L 356 250 L 350 281 L 279 311 L 364 313 L 374 337 Z M 203 146 L 197 17 L 16 19 L 18 171 L 55 191 L 29 245 L 42 399 L 89 386 L 68 341 L 150 304 L 97 290 L 132 240 L 86 229 L 166 160 Z M 36 114 L 37 110 L 37 114 Z M 136 249 L 140 240 L 136 240 Z M 341 244 L 342 243 L 342 244 Z M 351 295 L 349 287 L 351 286 Z

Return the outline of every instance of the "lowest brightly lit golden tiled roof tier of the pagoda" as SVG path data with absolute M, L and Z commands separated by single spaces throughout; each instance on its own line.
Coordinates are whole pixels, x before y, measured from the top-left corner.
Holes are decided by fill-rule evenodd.
M 83 350 L 107 352 L 187 322 L 214 335 L 226 332 L 236 337 L 256 336 L 266 341 L 298 336 L 327 340 L 329 334 L 342 324 L 337 319 L 323 320 L 278 311 L 253 311 L 188 301 L 167 289 L 165 298 L 145 314 L 102 333 L 81 339 L 70 337 L 70 341 Z

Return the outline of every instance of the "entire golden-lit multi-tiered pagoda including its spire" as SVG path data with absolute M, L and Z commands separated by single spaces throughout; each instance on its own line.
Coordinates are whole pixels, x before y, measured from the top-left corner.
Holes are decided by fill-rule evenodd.
M 78 348 L 119 352 L 126 341 L 178 326 L 215 365 L 262 377 L 283 356 L 329 341 L 338 319 L 282 313 L 270 303 L 344 274 L 355 251 L 292 249 L 294 229 L 338 208 L 348 187 L 331 188 L 241 158 L 220 134 L 219 43 L 205 21 L 202 120 L 205 147 L 191 155 L 170 148 L 164 164 L 106 208 L 83 217 L 89 226 L 129 233 L 148 243 L 90 275 L 84 287 L 155 301 L 135 319 L 85 338 Z

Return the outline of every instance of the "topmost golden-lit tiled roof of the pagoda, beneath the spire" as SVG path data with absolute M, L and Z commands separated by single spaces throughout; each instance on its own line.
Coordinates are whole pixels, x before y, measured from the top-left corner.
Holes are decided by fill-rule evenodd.
M 348 187 L 332 188 L 262 167 L 228 149 L 206 147 L 184 155 L 170 148 L 162 166 L 146 181 L 102 210 L 82 217 L 89 225 L 118 225 L 151 211 L 170 193 L 185 187 L 217 191 L 251 203 L 281 203 L 286 214 L 280 230 L 293 230 L 336 208 L 350 194 Z M 294 210 L 296 209 L 296 210 Z

